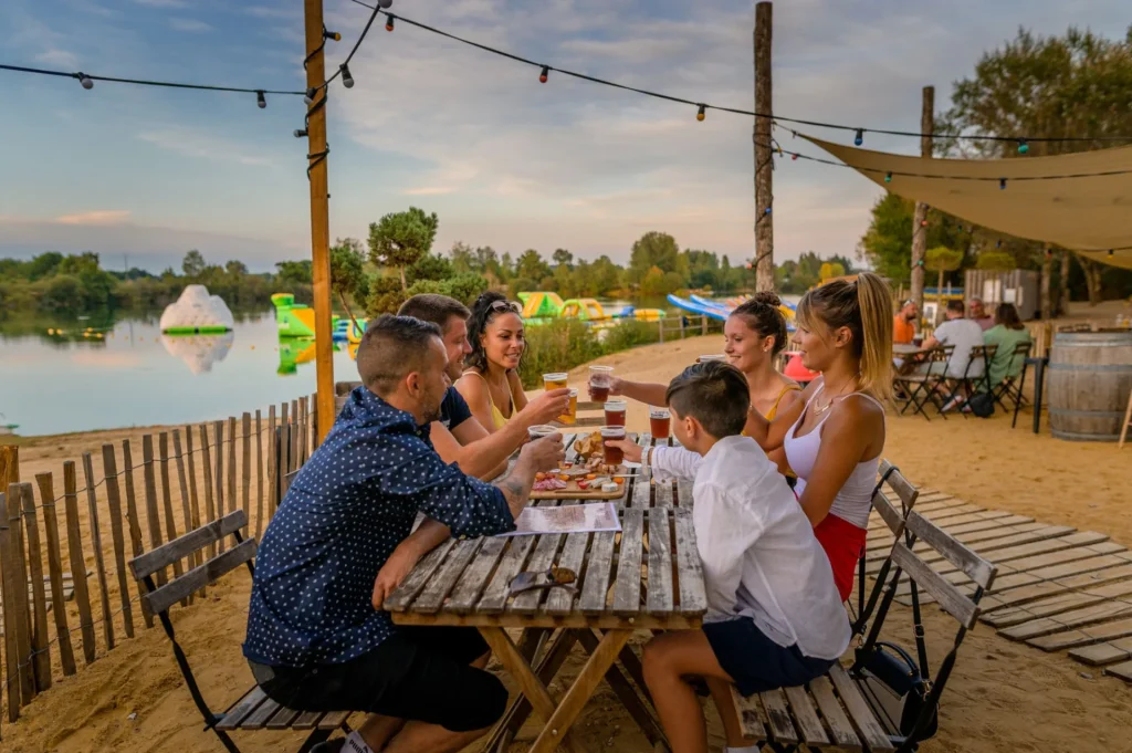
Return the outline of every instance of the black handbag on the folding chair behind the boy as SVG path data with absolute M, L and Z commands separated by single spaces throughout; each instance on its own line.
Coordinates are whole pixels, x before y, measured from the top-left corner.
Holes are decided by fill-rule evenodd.
M 856 651 L 858 687 L 868 696 L 874 711 L 887 717 L 890 729 L 916 742 L 934 737 L 938 729 L 938 707 L 932 704 L 927 721 L 916 729 L 925 708 L 932 703 L 931 683 L 901 647 L 885 641 L 859 647 Z

